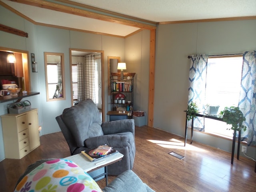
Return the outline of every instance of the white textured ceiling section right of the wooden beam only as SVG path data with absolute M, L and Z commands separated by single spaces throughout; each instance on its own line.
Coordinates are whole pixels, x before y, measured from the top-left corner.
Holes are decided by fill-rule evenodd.
M 154 22 L 256 16 L 256 0 L 71 0 Z

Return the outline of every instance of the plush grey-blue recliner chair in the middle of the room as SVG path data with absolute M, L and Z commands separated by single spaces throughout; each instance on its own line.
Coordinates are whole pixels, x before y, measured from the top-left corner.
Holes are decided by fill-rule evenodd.
M 64 109 L 56 120 L 71 155 L 106 144 L 124 155 L 120 162 L 108 166 L 108 174 L 119 175 L 132 169 L 135 157 L 133 119 L 102 122 L 96 104 L 87 99 Z

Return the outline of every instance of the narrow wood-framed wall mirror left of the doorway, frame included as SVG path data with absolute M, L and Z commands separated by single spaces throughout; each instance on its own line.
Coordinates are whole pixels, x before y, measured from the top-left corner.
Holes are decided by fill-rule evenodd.
M 64 54 L 44 52 L 47 101 L 65 100 Z

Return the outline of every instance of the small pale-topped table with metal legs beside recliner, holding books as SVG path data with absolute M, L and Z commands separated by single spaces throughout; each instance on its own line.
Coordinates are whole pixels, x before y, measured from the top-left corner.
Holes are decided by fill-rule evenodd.
M 96 160 L 94 162 L 91 162 L 82 154 L 72 155 L 72 156 L 66 157 L 64 159 L 75 162 L 78 166 L 80 166 L 87 173 L 90 173 L 94 170 L 104 167 L 105 173 L 100 174 L 100 175 L 94 177 L 93 179 L 97 179 L 97 178 L 104 176 L 106 178 L 106 185 L 108 185 L 108 165 L 122 160 L 123 156 L 124 156 L 123 154 L 118 152 L 118 153 L 112 154 L 110 156 L 107 156 L 105 158 L 102 158 L 100 160 Z

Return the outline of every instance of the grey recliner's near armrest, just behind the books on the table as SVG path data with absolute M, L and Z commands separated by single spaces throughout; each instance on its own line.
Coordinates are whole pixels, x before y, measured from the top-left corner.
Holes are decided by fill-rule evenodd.
M 113 148 L 124 148 L 130 146 L 129 138 L 123 135 L 102 135 L 88 138 L 84 141 L 84 145 L 88 148 L 96 148 L 105 144 L 112 146 Z

